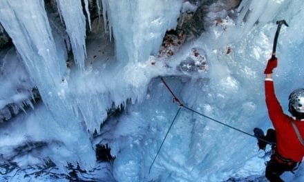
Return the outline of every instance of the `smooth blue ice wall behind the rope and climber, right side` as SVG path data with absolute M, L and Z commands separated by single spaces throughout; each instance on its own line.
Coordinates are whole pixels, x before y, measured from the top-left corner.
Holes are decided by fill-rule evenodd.
M 272 127 L 265 108 L 263 70 L 271 57 L 277 20 L 289 23 L 289 28 L 281 29 L 274 72 L 276 93 L 287 114 L 288 94 L 303 87 L 303 3 L 243 1 L 240 7 L 239 17 L 222 19 L 187 44 L 207 53 L 206 78 L 170 77 L 167 83 L 193 109 L 253 134 L 255 127 Z M 170 61 L 178 57 L 182 54 Z M 256 139 L 187 111 L 176 119 L 149 174 L 178 110 L 159 79 L 150 84 L 144 103 L 115 119 L 121 121 L 115 130 L 105 128 L 101 142 L 111 143 L 114 154 L 120 151 L 114 163 L 118 181 L 226 181 L 231 176 L 235 178 L 231 181 L 266 180 L 264 162 L 269 157 L 258 152 Z M 298 170 L 296 176 L 287 172 L 283 178 L 302 181 L 303 172 Z

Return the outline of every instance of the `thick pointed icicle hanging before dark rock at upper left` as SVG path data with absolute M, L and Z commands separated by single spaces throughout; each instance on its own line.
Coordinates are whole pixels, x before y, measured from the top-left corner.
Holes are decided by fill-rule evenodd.
M 66 32 L 70 37 L 70 44 L 75 62 L 79 70 L 84 70 L 86 58 L 86 19 L 82 12 L 81 1 L 57 0 L 61 16 L 66 24 Z

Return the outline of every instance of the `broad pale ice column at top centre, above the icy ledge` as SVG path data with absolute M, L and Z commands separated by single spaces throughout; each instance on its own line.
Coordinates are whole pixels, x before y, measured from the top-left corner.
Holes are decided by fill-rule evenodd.
M 146 61 L 157 54 L 166 30 L 175 29 L 183 1 L 102 0 L 104 17 L 115 38 L 117 59 Z

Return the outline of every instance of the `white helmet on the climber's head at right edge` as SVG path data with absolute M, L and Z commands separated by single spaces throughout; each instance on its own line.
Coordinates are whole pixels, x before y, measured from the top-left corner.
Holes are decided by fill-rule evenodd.
M 289 112 L 296 119 L 304 119 L 304 89 L 298 88 L 289 94 Z

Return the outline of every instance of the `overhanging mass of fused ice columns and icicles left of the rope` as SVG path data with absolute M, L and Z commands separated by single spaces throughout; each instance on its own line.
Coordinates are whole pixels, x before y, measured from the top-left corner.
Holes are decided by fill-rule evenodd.
M 98 132 L 107 117 L 106 110 L 113 105 L 119 107 L 127 99 L 141 102 L 150 79 L 164 71 L 162 64 L 150 70 L 149 56 L 158 52 L 164 33 L 175 28 L 182 6 L 182 1 L 102 3 L 107 5 L 104 12 L 108 11 L 110 25 L 115 28 L 113 34 L 120 59 L 110 58 L 108 63 L 104 61 L 88 70 L 84 68 L 86 20 L 81 1 L 57 1 L 79 70 L 73 66 L 67 68 L 66 52 L 61 50 L 65 48 L 61 40 L 65 34 L 50 27 L 43 1 L 0 3 L 0 22 L 54 117 L 52 125 L 66 132 L 53 132 L 46 125 L 41 130 L 62 140 L 84 167 L 92 166 L 95 160 L 87 131 Z M 87 1 L 85 6 L 90 21 Z M 155 9 L 147 11 L 149 7 Z

